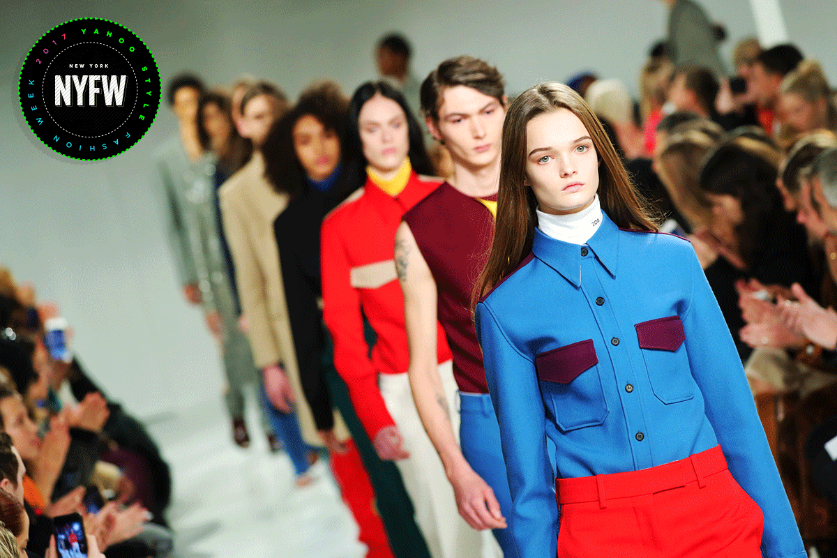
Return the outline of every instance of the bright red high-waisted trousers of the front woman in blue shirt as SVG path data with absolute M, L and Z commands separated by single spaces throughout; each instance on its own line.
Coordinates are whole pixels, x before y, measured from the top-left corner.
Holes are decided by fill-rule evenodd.
M 762 510 L 716 446 L 659 467 L 557 479 L 558 558 L 761 558 Z

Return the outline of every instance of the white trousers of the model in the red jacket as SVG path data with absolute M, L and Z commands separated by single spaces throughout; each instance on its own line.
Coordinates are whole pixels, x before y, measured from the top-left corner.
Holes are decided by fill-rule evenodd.
M 459 438 L 460 412 L 453 363 L 439 365 L 450 422 Z M 403 438 L 410 457 L 395 462 L 404 488 L 413 500 L 415 520 L 433 558 L 493 558 L 501 550 L 490 530 L 477 531 L 456 508 L 454 489 L 444 474 L 442 460 L 424 431 L 410 391 L 407 373 L 378 376 L 383 401 Z M 457 439 L 457 441 L 459 441 Z

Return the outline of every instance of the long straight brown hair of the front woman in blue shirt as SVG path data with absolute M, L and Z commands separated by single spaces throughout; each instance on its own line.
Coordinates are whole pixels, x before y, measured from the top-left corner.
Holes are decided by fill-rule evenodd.
M 535 116 L 556 109 L 567 109 L 578 116 L 593 138 L 602 210 L 621 228 L 657 230 L 650 208 L 637 196 L 619 155 L 587 103 L 567 85 L 535 85 L 511 102 L 503 122 L 497 222 L 488 264 L 476 282 L 480 296 L 514 271 L 531 252 L 537 200 L 531 187 L 526 186 L 526 125 Z

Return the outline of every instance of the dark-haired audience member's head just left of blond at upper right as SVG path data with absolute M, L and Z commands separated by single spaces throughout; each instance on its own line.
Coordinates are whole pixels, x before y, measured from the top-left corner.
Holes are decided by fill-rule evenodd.
M 778 108 L 782 80 L 802 62 L 803 55 L 793 44 L 778 44 L 763 50 L 752 64 L 747 78 L 747 90 L 756 100 L 758 122 L 771 137 L 778 135 Z

